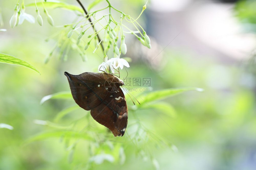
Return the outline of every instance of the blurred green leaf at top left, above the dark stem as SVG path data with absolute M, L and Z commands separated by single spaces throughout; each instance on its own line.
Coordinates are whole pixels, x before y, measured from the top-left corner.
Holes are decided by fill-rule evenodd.
M 83 9 L 80 7 L 77 7 L 75 5 L 66 4 L 60 1 L 54 1 L 54 2 L 38 2 L 36 3 L 38 7 L 45 7 L 45 8 L 63 8 L 68 9 L 71 11 L 79 11 L 81 13 L 84 13 Z M 35 3 L 31 3 L 26 5 L 26 7 L 34 7 Z

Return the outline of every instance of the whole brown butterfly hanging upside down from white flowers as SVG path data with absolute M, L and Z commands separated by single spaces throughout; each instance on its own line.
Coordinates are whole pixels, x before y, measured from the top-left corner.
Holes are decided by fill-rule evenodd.
M 106 126 L 114 136 L 123 136 L 128 120 L 128 109 L 120 86 L 124 82 L 109 73 L 65 72 L 75 102 Z

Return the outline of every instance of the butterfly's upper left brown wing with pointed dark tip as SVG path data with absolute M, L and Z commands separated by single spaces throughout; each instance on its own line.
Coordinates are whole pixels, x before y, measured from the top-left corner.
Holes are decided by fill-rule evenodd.
M 98 106 L 107 96 L 102 73 L 72 75 L 65 72 L 75 102 L 85 110 Z

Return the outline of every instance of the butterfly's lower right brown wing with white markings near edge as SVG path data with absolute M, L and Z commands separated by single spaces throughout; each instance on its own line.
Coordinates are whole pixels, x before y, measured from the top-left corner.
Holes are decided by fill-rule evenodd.
M 116 92 L 109 92 L 108 95 L 99 106 L 91 110 L 91 116 L 110 129 L 114 136 L 123 136 L 128 122 L 124 93 L 119 88 Z

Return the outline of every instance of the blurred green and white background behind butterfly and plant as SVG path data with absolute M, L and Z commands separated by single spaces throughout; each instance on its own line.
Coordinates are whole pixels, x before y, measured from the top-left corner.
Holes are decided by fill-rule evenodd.
M 85 7 L 91 2 L 82 1 Z M 134 18 L 146 3 L 110 2 Z M 138 21 L 152 49 L 127 35 L 128 77 L 150 77 L 151 92 L 181 87 L 205 91 L 149 103 L 153 107 L 160 102 L 154 109 L 132 106 L 127 96 L 129 121 L 121 138 L 92 121 L 72 99 L 40 105 L 44 96 L 70 90 L 64 71 L 96 72 L 102 59 L 89 50 L 83 62 L 73 50 L 64 61 L 57 49 L 44 64 L 56 43 L 54 38 L 45 40 L 76 15 L 48 9 L 53 28 L 40 8 L 42 27 L 24 21 L 10 28 L 15 3 L 0 1 L 0 28 L 7 29 L 0 32 L 0 52 L 29 62 L 41 75 L 0 63 L 0 123 L 13 126 L 0 129 L 0 169 L 256 169 L 255 1 L 148 2 Z M 102 1 L 95 9 L 105 6 Z M 26 12 L 36 17 L 34 7 L 26 7 Z M 121 78 L 125 76 L 124 71 Z M 69 107 L 75 109 L 56 121 L 56 115 Z

